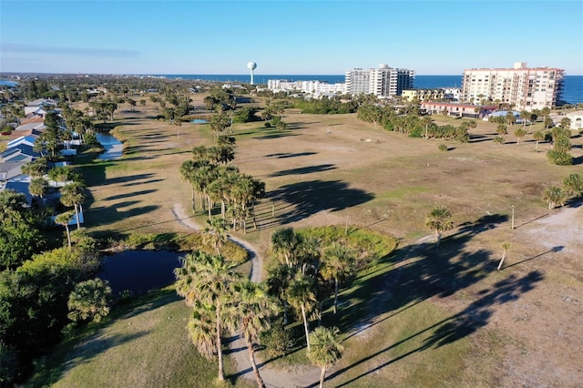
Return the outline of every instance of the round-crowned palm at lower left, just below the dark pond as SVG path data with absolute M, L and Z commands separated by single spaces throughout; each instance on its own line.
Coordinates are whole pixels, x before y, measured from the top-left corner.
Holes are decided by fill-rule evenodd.
M 109 313 L 111 301 L 111 287 L 107 281 L 95 278 L 81 281 L 69 294 L 66 305 L 69 309 L 67 317 L 73 321 L 101 322 Z

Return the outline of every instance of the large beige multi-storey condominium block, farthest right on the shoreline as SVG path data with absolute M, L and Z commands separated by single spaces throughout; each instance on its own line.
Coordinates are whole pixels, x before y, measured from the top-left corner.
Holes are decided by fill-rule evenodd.
M 555 107 L 563 90 L 565 70 L 556 67 L 473 68 L 464 71 L 462 98 L 480 105 L 484 100 L 531 111 Z

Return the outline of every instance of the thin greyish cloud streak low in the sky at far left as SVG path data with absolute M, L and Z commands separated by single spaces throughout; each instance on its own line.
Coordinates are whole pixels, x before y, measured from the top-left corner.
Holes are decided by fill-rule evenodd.
M 0 51 L 3 53 L 57 54 L 64 56 L 135 57 L 141 55 L 141 53 L 135 50 L 122 50 L 117 48 L 41 46 L 23 45 L 19 43 L 2 43 L 0 44 Z

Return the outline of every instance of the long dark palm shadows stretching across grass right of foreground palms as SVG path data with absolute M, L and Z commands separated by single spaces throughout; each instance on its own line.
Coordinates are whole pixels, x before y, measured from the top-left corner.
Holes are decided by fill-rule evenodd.
M 386 322 L 423 301 L 449 297 L 484 280 L 496 272 L 497 260 L 493 260 L 489 250 L 466 251 L 465 246 L 477 234 L 506 222 L 506 219 L 504 215 L 494 215 L 464 224 L 455 234 L 443 240 L 440 249 L 436 249 L 432 243 L 421 242 L 396 250 L 380 264 L 384 265 L 382 271 L 364 273 L 353 282 L 350 290 L 341 293 L 340 300 L 350 307 L 341 308 L 338 316 L 326 314 L 324 325 L 339 327 L 341 332 L 348 334 L 345 340 L 366 335 L 373 326 Z M 371 361 L 373 369 L 367 369 L 343 385 L 354 383 L 410 354 L 463 339 L 486 326 L 494 312 L 494 306 L 516 301 L 542 279 L 543 275 L 538 271 L 531 271 L 522 277 L 510 274 L 489 288 L 486 286 L 480 291 L 470 291 L 474 292 L 476 299 L 469 302 L 463 311 L 446 319 L 430 322 L 423 330 L 343 367 L 332 373 L 328 379 L 342 376 L 354 367 Z M 410 342 L 411 340 L 414 341 Z M 386 361 L 389 356 L 392 358 Z M 375 360 L 377 357 L 381 359 Z M 383 363 L 379 365 L 379 361 Z

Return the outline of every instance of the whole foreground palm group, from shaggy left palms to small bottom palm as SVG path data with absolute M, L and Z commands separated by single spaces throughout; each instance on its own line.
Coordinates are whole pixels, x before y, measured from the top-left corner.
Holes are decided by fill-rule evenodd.
M 323 301 L 333 287 L 337 312 L 339 286 L 352 277 L 356 252 L 338 242 L 322 249 L 320 240 L 303 237 L 292 228 L 277 230 L 271 242 L 278 264 L 262 283 L 243 279 L 220 254 L 197 250 L 182 258 L 182 266 L 175 271 L 176 290 L 192 309 L 189 337 L 202 355 L 218 358 L 222 381 L 222 338 L 239 331 L 258 386 L 264 387 L 255 362 L 255 344 L 281 311 L 287 324 L 291 305 L 302 316 L 308 357 L 322 368 L 323 383 L 326 368 L 343 352 L 338 329 L 321 325 Z M 318 317 L 319 325 L 310 332 L 309 320 L 313 317 Z

